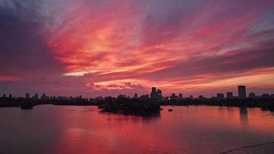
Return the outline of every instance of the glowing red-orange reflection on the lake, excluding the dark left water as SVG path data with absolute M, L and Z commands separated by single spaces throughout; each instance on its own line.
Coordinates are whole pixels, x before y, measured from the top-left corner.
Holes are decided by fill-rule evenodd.
M 274 130 L 273 120 L 260 118 L 269 112 L 258 108 L 163 106 L 153 117 L 72 108 L 76 111 L 60 113 L 65 118 L 54 153 L 221 152 L 249 144 L 237 136 L 241 131 L 248 135 Z

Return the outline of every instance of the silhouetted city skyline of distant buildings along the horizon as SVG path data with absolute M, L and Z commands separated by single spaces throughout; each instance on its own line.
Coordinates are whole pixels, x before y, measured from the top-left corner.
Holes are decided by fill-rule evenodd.
M 238 86 L 238 96 L 233 96 L 232 92 L 226 92 L 226 97 L 223 93 L 217 93 L 217 95 L 215 97 L 212 97 L 210 99 L 245 99 L 245 98 L 252 98 L 252 99 L 256 99 L 256 98 L 274 98 L 274 94 L 262 94 L 260 96 L 257 96 L 255 93 L 251 92 L 249 93 L 248 97 L 247 97 L 247 89 L 246 86 Z M 13 99 L 41 99 L 41 100 L 89 100 L 90 98 L 84 98 L 82 97 L 82 95 L 73 97 L 65 97 L 65 96 L 47 96 L 46 94 L 42 94 L 42 96 L 39 98 L 39 94 L 34 94 L 33 96 L 30 96 L 29 93 L 25 94 L 25 97 L 13 97 L 12 94 L 9 94 L 9 96 L 7 97 L 6 94 L 3 94 L 3 98 L 13 98 Z M 117 100 L 117 99 L 124 99 L 124 98 L 130 98 L 130 96 L 126 96 L 126 95 L 118 95 L 118 97 L 111 97 L 111 96 L 107 96 L 107 97 L 101 97 L 98 96 L 92 100 L 96 100 L 96 101 L 102 101 L 102 100 Z M 203 95 L 199 95 L 197 98 L 194 98 L 192 95 L 190 95 L 189 97 L 183 97 L 182 93 L 179 93 L 179 95 L 176 95 L 175 93 L 172 93 L 170 96 L 162 96 L 162 91 L 160 89 L 156 89 L 156 87 L 152 87 L 151 88 L 151 93 L 150 94 L 143 94 L 141 96 L 138 97 L 138 94 L 135 93 L 134 96 L 132 97 L 133 99 L 140 99 L 140 100 L 146 100 L 146 99 L 156 99 L 156 100 L 183 100 L 183 99 L 198 99 L 198 100 L 206 100 L 209 98 L 205 98 L 203 97 Z

